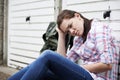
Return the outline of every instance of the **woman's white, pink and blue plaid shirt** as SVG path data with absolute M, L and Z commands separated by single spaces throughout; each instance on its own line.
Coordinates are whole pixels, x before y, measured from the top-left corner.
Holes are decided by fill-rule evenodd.
M 113 64 L 112 70 L 98 74 L 89 73 L 94 80 L 117 80 L 119 46 L 111 34 L 111 29 L 96 19 L 92 21 L 85 43 L 82 37 L 74 38 L 73 47 L 68 51 L 67 58 L 73 62 L 82 59 L 84 64 Z

